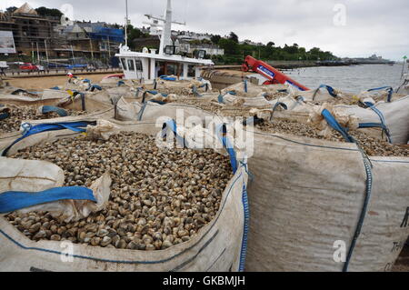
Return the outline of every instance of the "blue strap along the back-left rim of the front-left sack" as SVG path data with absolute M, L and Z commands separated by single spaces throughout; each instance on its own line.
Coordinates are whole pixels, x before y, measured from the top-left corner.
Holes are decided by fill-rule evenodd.
M 67 122 L 67 123 L 55 123 L 55 124 L 40 124 L 32 126 L 28 123 L 23 124 L 22 126 L 25 127 L 25 133 L 20 138 L 16 139 L 12 145 L 9 145 L 2 153 L 2 156 L 7 155 L 7 152 L 13 147 L 15 144 L 20 142 L 21 140 L 25 139 L 30 135 L 39 134 L 42 132 L 47 131 L 57 131 L 57 130 L 71 130 L 74 132 L 86 132 L 86 129 L 83 129 L 87 125 L 96 125 L 96 122 Z

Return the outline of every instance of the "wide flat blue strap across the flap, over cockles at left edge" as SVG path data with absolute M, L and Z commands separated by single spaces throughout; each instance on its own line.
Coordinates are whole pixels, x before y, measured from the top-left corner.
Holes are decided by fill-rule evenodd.
M 81 186 L 55 187 L 37 193 L 9 191 L 0 194 L 0 214 L 66 199 L 96 202 L 93 191 Z

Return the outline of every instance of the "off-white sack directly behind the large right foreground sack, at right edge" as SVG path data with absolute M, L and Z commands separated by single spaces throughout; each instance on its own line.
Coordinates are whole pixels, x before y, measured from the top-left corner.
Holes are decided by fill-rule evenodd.
M 284 98 L 278 98 L 271 103 L 276 108 L 277 117 L 306 122 L 313 108 L 317 105 L 332 104 L 338 111 L 346 115 L 355 115 L 359 127 L 364 132 L 381 140 L 387 139 L 393 144 L 405 144 L 409 138 L 409 115 L 407 96 L 393 97 L 390 91 L 386 97 L 388 101 L 375 102 L 364 95 L 352 99 L 332 87 L 323 85 L 317 90 L 307 92 L 292 92 Z M 285 112 L 281 106 L 284 104 Z M 347 105 L 357 104 L 357 105 Z

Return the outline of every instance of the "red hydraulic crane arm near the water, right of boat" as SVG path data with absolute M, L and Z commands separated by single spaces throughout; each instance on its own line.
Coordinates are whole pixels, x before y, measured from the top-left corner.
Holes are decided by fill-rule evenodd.
M 263 75 L 268 80 L 264 82 L 264 85 L 275 85 L 275 84 L 289 84 L 293 85 L 300 91 L 309 91 L 310 89 L 304 85 L 301 85 L 294 81 L 287 75 L 284 75 L 279 70 L 275 69 L 271 65 L 267 65 L 263 61 L 257 60 L 254 57 L 247 55 L 244 59 L 244 64 L 242 65 L 242 70 L 248 72 L 249 70 L 254 71 L 254 73 Z

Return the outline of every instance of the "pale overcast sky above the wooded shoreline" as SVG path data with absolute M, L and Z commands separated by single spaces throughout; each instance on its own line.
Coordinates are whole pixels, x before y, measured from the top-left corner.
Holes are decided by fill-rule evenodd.
M 0 8 L 26 1 L 1 0 Z M 163 15 L 165 0 L 128 0 L 133 25 Z M 76 20 L 124 23 L 125 0 L 28 0 L 33 7 L 72 5 Z M 227 35 L 264 44 L 318 46 L 338 56 L 409 55 L 408 0 L 173 0 L 174 29 Z

